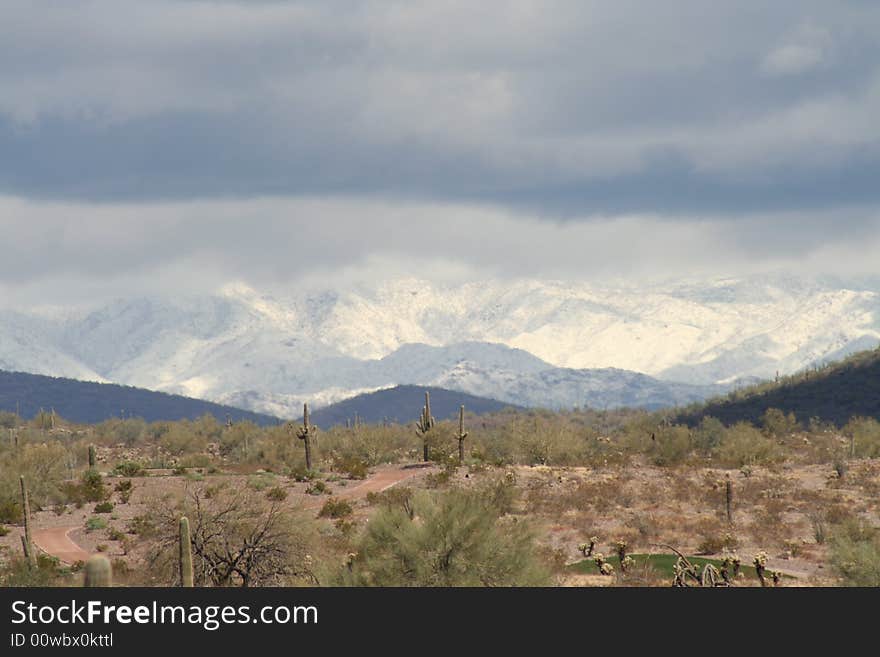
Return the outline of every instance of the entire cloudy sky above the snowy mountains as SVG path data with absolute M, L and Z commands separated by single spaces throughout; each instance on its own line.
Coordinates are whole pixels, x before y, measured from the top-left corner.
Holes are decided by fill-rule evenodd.
M 880 274 L 872 0 L 3 0 L 0 296 Z

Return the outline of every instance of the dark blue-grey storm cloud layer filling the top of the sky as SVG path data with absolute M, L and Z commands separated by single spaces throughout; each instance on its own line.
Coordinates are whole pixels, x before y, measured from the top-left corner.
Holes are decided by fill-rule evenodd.
M 8 195 L 366 194 L 561 215 L 880 196 L 871 3 L 0 11 Z

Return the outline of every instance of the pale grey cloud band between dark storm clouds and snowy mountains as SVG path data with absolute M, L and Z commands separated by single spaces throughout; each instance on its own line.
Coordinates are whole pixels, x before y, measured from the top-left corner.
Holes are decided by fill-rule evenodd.
M 526 218 L 494 206 L 369 198 L 165 203 L 0 198 L 0 299 L 352 285 L 416 276 L 657 279 L 771 269 L 877 275 L 880 213 Z

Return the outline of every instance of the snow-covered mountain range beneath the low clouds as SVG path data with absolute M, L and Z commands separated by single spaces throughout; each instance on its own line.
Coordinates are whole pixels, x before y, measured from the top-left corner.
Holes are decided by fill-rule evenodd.
M 0 310 L 0 369 L 295 416 L 399 384 L 548 407 L 681 403 L 880 343 L 880 284 L 401 279 Z

